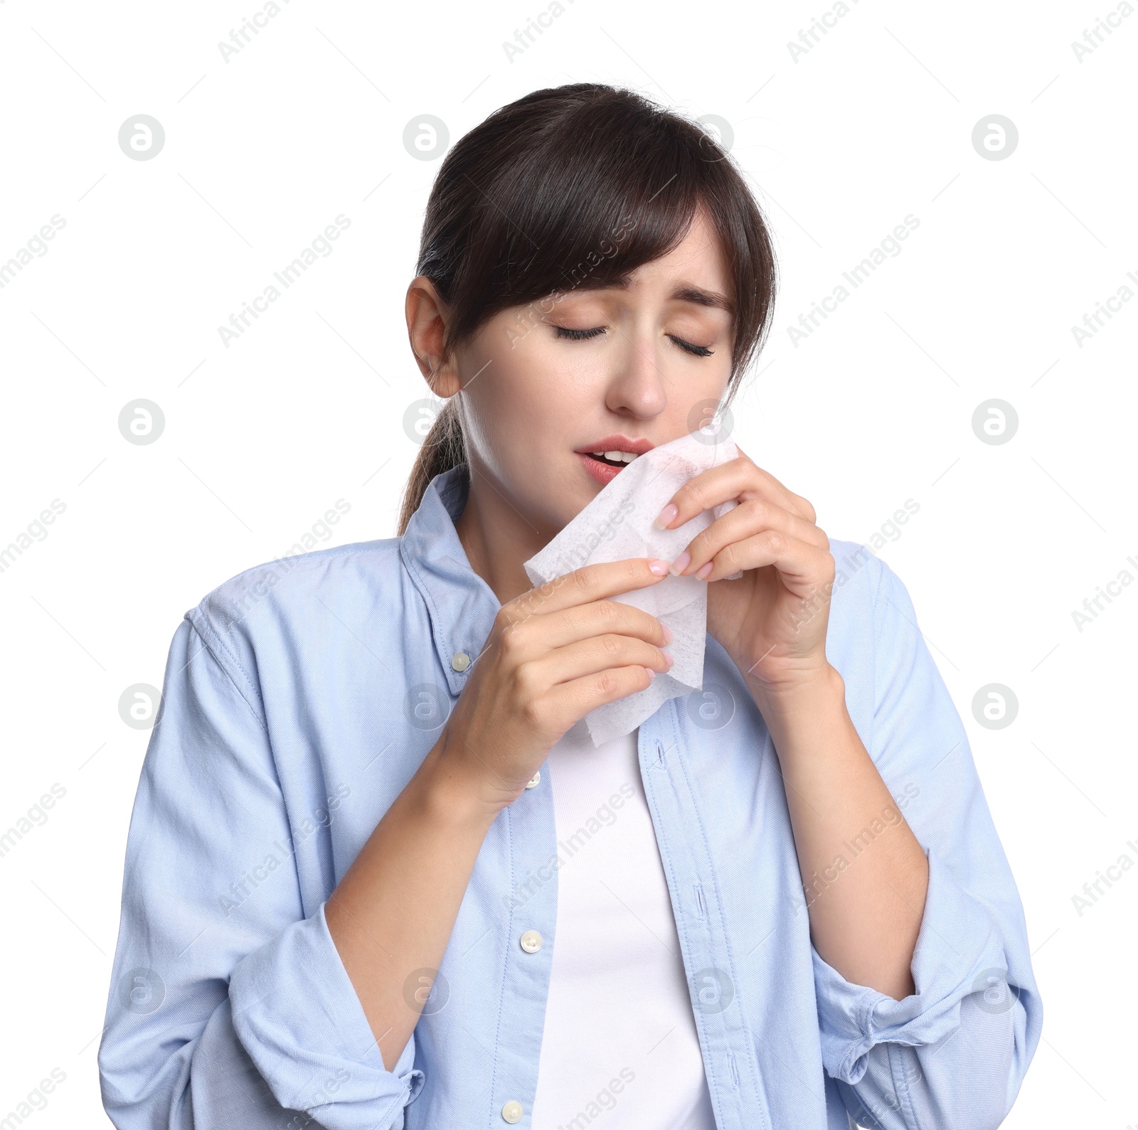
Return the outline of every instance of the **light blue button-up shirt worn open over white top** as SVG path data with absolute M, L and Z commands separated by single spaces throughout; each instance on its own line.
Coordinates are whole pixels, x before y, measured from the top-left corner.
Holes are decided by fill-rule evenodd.
M 529 1125 L 556 952 L 549 765 L 492 825 L 394 1071 L 324 918 L 498 611 L 455 531 L 465 496 L 462 471 L 438 476 L 404 537 L 248 569 L 174 633 L 99 1049 L 122 1130 L 494 1130 L 508 1104 Z M 984 1130 L 1011 1107 L 1042 1021 L 1023 910 L 905 586 L 865 547 L 830 545 L 826 655 L 929 857 L 916 992 L 851 984 L 815 951 L 777 757 L 709 636 L 703 691 L 641 725 L 638 758 L 716 1121 Z M 851 836 L 844 861 L 891 822 Z M 544 939 L 534 952 L 528 931 Z M 426 984 L 412 972 L 406 991 L 422 999 Z M 636 1064 L 612 1067 L 605 1127 L 620 1124 L 621 1070 L 634 1086 Z

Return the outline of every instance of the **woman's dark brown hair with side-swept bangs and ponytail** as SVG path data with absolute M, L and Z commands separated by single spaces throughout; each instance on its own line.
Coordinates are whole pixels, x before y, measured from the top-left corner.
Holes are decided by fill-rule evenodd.
M 601 83 L 526 94 L 490 114 L 444 158 L 417 267 L 451 312 L 444 352 L 469 341 L 503 310 L 612 286 L 668 254 L 696 206 L 707 211 L 732 277 L 729 403 L 762 346 L 774 306 L 774 248 L 762 212 L 733 158 L 699 124 Z M 431 479 L 465 462 L 452 396 L 412 468 L 401 536 Z

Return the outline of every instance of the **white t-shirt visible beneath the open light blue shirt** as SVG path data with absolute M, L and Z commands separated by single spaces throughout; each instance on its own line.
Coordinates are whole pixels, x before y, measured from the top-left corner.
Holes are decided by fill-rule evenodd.
M 533 1130 L 610 1111 L 602 1128 L 716 1130 L 637 733 L 594 747 L 583 719 L 550 752 L 561 864 Z

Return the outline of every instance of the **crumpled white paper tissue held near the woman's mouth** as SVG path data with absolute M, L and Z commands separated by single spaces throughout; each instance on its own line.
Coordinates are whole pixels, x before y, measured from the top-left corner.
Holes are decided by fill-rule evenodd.
M 739 451 L 724 432 L 693 431 L 653 447 L 629 463 L 539 553 L 525 563 L 534 586 L 599 561 L 662 558 L 671 562 L 735 501 L 704 510 L 676 529 L 652 523 L 671 496 L 691 478 L 735 459 Z M 742 577 L 742 572 L 729 578 Z M 707 582 L 670 574 L 646 588 L 611 597 L 651 613 L 673 632 L 667 650 L 676 662 L 643 691 L 597 707 L 585 716 L 594 745 L 630 734 L 668 701 L 703 686 L 703 645 L 707 636 Z

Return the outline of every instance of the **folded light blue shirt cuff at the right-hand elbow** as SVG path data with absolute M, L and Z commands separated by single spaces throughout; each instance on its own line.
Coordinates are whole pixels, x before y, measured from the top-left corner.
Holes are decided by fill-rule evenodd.
M 901 1000 L 851 984 L 827 965 L 811 945 L 814 981 L 827 1074 L 853 1086 L 877 1044 L 921 1047 L 937 1044 L 960 1024 L 960 1001 L 973 992 L 1014 992 L 1007 985 L 1007 958 L 991 916 L 933 852 L 929 889 L 910 971 L 916 991 Z M 1001 988 L 997 988 L 1001 984 Z M 1014 1001 L 996 1007 L 1012 1007 Z

